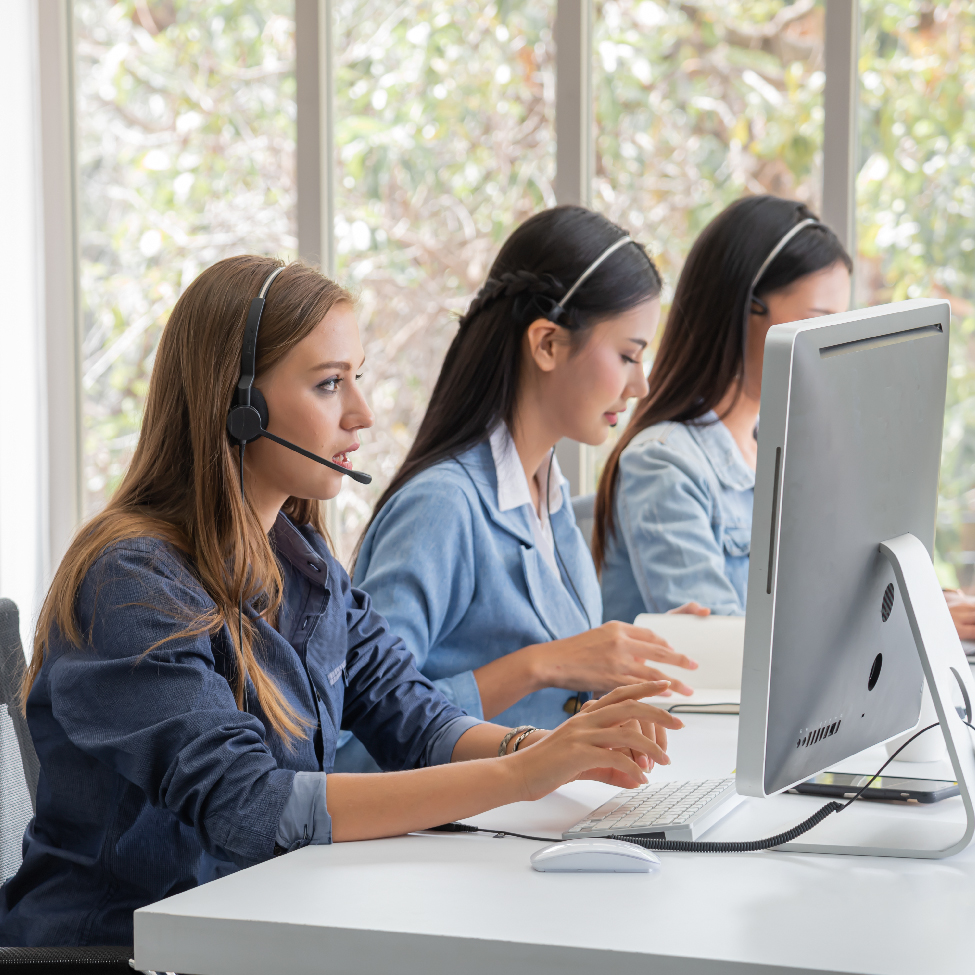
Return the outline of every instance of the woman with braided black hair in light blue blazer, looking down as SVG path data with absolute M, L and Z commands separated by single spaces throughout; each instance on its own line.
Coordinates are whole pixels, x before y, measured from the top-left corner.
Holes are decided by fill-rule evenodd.
M 460 320 L 355 584 L 468 714 L 555 727 L 589 691 L 661 676 L 648 660 L 696 666 L 649 630 L 600 625 L 554 454 L 562 437 L 602 443 L 646 392 L 659 295 L 653 262 L 624 231 L 556 207 L 511 235 Z M 336 763 L 375 768 L 355 740 Z

